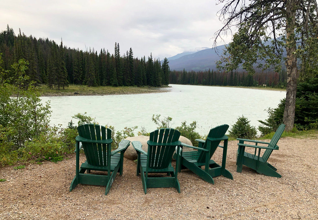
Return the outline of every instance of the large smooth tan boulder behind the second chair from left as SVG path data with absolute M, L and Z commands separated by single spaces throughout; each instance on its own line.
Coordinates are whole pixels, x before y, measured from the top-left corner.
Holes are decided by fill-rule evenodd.
M 129 140 L 129 141 L 140 141 L 142 143 L 142 149 L 144 151 L 148 151 L 148 144 L 147 141 L 149 141 L 149 136 L 135 136 L 135 137 L 128 137 L 125 140 Z M 191 141 L 183 136 L 179 137 L 179 141 L 181 141 L 182 143 L 188 144 L 188 145 L 192 145 Z M 191 148 L 187 148 L 187 147 L 183 147 L 183 151 L 189 151 L 189 150 L 193 150 Z M 127 148 L 127 150 L 124 153 L 124 157 L 130 159 L 130 160 L 136 160 L 137 159 L 137 153 L 136 150 L 133 148 L 133 145 L 130 143 L 129 147 Z

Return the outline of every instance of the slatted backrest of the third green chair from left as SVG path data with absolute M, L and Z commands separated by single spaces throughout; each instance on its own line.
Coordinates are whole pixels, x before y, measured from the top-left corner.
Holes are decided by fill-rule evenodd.
M 221 138 L 225 135 L 227 129 L 229 128 L 228 125 L 220 125 L 214 128 L 211 128 L 208 137 L 210 138 Z M 204 149 L 207 149 L 207 139 L 205 140 L 205 143 L 203 145 Z M 218 148 L 218 145 L 220 144 L 221 141 L 211 141 L 211 146 L 210 146 L 210 151 L 203 151 L 203 150 L 199 150 L 200 155 L 198 157 L 197 162 L 199 163 L 204 163 L 205 162 L 205 157 L 206 154 L 210 154 L 210 158 L 212 157 L 212 155 L 214 154 L 215 150 Z

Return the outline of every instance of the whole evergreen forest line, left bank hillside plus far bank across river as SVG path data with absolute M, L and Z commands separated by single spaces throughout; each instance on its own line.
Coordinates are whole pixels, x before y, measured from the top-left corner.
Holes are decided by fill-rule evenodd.
M 48 38 L 16 35 L 12 28 L 0 33 L 0 53 L 3 69 L 24 58 L 29 62 L 26 75 L 35 85 L 46 84 L 52 89 L 64 89 L 69 84 L 87 86 L 154 86 L 168 84 L 214 86 L 270 86 L 286 87 L 286 70 L 281 72 L 259 71 L 254 75 L 245 72 L 175 71 L 169 61 L 159 61 L 152 54 L 134 58 L 132 49 L 120 54 L 119 43 L 114 53 L 101 49 L 86 51 L 71 49 Z M 8 76 L 10 77 L 10 76 Z

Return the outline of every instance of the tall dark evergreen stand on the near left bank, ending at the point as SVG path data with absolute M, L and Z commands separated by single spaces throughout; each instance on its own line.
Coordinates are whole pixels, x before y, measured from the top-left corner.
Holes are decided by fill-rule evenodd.
M 35 85 L 46 84 L 61 89 L 69 84 L 87 86 L 155 86 L 169 84 L 169 65 L 165 58 L 161 63 L 152 55 L 146 60 L 134 58 L 133 51 L 120 55 L 119 43 L 114 54 L 105 49 L 71 49 L 48 38 L 34 38 L 24 33 L 16 35 L 12 28 L 0 33 L 0 53 L 3 68 L 24 58 L 29 62 L 26 75 Z M 9 76 L 10 77 L 10 76 Z

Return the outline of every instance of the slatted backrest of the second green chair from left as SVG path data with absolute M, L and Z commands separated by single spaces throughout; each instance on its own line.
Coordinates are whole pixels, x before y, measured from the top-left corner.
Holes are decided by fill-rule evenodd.
M 171 143 L 178 141 L 180 132 L 172 128 L 161 128 L 150 133 L 149 140 L 157 143 Z M 172 154 L 176 146 L 149 146 L 148 145 L 148 168 L 164 169 L 169 166 Z

